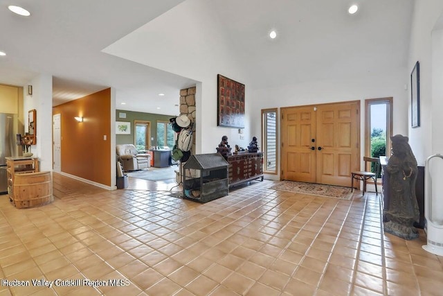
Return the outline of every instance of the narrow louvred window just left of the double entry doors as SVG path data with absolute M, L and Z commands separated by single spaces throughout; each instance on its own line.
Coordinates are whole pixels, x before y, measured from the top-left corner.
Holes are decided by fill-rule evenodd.
M 277 108 L 262 110 L 262 151 L 264 173 L 277 174 Z

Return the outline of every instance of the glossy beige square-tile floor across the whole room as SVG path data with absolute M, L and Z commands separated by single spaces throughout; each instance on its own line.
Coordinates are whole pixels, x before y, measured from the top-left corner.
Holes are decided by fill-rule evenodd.
M 174 183 L 106 191 L 53 179 L 44 207 L 15 209 L 0 195 L 0 295 L 443 293 L 443 257 L 422 250 L 422 231 L 414 241 L 383 234 L 372 193 L 335 200 L 265 180 L 199 204 L 169 195 Z

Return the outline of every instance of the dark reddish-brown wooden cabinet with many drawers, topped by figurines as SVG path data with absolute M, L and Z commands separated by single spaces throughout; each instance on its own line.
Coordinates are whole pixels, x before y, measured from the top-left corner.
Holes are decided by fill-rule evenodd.
M 263 153 L 240 153 L 225 158 L 229 163 L 229 186 L 259 178 L 263 181 Z

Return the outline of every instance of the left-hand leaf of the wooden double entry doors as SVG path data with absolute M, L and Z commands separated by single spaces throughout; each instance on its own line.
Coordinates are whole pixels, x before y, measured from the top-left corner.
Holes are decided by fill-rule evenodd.
M 282 109 L 282 180 L 316 182 L 315 130 L 313 107 Z

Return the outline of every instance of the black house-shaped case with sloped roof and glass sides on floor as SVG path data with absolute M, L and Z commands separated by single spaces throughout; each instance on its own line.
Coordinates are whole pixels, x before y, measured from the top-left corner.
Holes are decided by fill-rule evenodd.
M 183 198 L 209 202 L 228 195 L 228 166 L 220 153 L 192 155 L 183 165 Z

